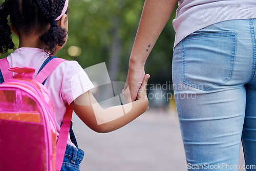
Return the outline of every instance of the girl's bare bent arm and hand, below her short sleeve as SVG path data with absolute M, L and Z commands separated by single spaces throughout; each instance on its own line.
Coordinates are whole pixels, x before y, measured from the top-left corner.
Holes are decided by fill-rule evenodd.
M 117 130 L 147 110 L 146 85 L 148 78 L 149 75 L 144 76 L 137 100 L 132 103 L 103 110 L 89 91 L 71 103 L 72 109 L 86 125 L 98 133 Z

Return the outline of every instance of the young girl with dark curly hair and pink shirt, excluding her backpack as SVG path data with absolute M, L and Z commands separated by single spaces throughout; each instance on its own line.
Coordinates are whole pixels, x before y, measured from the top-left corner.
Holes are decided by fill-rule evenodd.
M 18 49 L 7 57 L 10 67 L 33 67 L 37 74 L 42 63 L 66 44 L 67 7 L 68 0 L 6 0 L 2 4 L 0 53 L 14 48 L 11 30 L 19 37 Z M 136 101 L 103 110 L 91 94 L 93 84 L 80 65 L 76 61 L 60 63 L 45 82 L 54 103 L 57 132 L 67 104 L 85 124 L 99 133 L 117 130 L 131 122 L 147 109 L 148 78 L 149 75 L 145 75 Z M 61 170 L 79 170 L 83 154 L 69 138 Z

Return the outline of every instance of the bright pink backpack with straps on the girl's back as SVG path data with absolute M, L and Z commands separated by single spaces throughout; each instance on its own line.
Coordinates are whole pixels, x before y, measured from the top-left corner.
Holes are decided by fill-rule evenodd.
M 53 103 L 41 83 L 62 61 L 53 58 L 32 80 L 35 69 L 9 68 L 7 58 L 0 59 L 5 80 L 0 84 L 0 170 L 61 169 L 72 108 L 68 105 L 56 143 Z

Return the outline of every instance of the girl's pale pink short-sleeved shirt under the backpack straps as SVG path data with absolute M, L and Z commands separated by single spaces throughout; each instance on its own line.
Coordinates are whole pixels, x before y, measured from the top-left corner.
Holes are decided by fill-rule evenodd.
M 35 77 L 48 56 L 42 49 L 19 48 L 10 54 L 7 60 L 10 67 L 35 68 Z M 77 61 L 64 61 L 48 77 L 45 87 L 53 101 L 58 136 L 67 103 L 70 104 L 81 94 L 93 89 L 94 86 Z M 70 138 L 67 144 L 75 146 Z

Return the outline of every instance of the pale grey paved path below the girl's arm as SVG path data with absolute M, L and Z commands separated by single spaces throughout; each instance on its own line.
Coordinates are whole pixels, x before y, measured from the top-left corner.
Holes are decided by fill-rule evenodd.
M 73 121 L 79 148 L 85 151 L 81 171 L 186 170 L 176 113 L 148 110 L 130 124 L 106 134 L 93 132 L 76 115 Z

